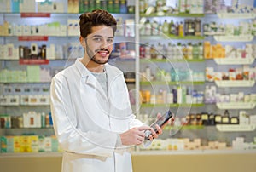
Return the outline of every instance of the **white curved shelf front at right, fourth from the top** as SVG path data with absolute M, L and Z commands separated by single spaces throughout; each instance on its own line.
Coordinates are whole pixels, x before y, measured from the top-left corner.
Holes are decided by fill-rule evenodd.
M 223 80 L 223 81 L 215 81 L 218 87 L 253 87 L 255 81 L 254 80 Z

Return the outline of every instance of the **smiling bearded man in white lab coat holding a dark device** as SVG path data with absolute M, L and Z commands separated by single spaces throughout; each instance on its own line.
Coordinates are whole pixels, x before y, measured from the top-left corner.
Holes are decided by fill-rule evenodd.
M 145 130 L 131 112 L 123 72 L 108 62 L 116 20 L 105 10 L 80 15 L 84 57 L 55 75 L 51 112 L 64 150 L 63 172 L 131 172 L 129 146 L 140 145 Z

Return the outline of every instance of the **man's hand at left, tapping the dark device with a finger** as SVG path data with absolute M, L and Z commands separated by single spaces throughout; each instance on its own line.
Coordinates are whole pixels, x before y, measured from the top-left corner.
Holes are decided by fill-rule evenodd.
M 129 129 L 125 133 L 120 134 L 122 145 L 131 146 L 142 144 L 143 140 L 145 140 L 145 130 L 150 130 L 152 132 L 152 135 L 157 137 L 154 129 L 147 125 L 143 125 L 141 127 Z

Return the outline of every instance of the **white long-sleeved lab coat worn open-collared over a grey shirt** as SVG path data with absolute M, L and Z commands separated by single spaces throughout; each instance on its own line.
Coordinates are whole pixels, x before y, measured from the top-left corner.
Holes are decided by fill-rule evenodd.
M 123 72 L 105 65 L 108 96 L 76 60 L 51 83 L 55 135 L 64 150 L 62 172 L 131 172 L 129 147 L 115 148 L 119 133 L 143 123 L 131 112 Z

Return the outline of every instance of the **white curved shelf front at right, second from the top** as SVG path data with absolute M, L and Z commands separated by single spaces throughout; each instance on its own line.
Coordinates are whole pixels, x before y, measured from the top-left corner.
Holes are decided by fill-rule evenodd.
M 218 42 L 251 42 L 253 35 L 239 35 L 239 36 L 213 36 Z

